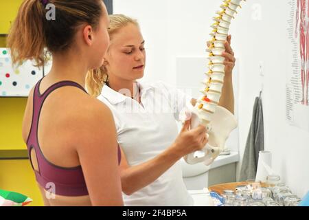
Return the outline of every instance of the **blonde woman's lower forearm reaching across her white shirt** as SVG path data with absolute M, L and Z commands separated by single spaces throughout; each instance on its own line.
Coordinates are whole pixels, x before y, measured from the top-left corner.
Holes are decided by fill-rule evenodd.
M 158 179 L 181 157 L 174 153 L 173 146 L 148 162 L 122 170 L 122 191 L 131 195 Z

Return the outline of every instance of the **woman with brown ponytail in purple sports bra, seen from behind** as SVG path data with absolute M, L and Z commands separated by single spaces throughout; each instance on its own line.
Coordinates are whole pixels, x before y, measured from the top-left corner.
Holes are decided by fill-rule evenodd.
M 25 0 L 10 30 L 14 64 L 30 59 L 43 67 L 45 49 L 53 59 L 30 91 L 23 120 L 45 206 L 123 205 L 112 113 L 84 89 L 87 71 L 103 63 L 108 25 L 102 0 Z

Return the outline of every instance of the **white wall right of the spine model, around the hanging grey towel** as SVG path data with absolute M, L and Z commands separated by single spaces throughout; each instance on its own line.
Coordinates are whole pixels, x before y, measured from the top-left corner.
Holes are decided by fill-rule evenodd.
M 247 1 L 231 31 L 240 63 L 240 152 L 244 151 L 254 96 L 264 84 L 265 150 L 273 170 L 300 197 L 309 190 L 309 131 L 286 122 L 288 0 Z M 261 9 L 260 20 L 255 10 Z M 270 50 L 271 49 L 271 50 Z M 264 77 L 259 64 L 264 63 Z

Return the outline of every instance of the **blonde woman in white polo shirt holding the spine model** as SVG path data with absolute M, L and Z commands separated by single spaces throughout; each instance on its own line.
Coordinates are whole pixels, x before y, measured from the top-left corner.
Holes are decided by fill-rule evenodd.
M 122 14 L 110 16 L 111 44 L 101 69 L 87 76 L 87 89 L 113 112 L 126 206 L 193 206 L 185 188 L 179 159 L 207 143 L 205 127 L 178 133 L 176 120 L 187 102 L 195 100 L 164 83 L 139 83 L 146 53 L 139 24 Z M 231 71 L 235 58 L 226 43 L 227 74 L 220 105 L 233 112 Z

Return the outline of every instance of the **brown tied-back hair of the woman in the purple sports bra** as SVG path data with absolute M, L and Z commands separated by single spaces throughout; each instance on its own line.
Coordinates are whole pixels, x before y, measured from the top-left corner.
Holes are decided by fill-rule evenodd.
M 76 28 L 88 23 L 98 27 L 102 16 L 102 0 L 49 0 L 56 10 L 56 19 L 47 20 L 41 0 L 25 0 L 19 8 L 8 36 L 12 63 L 34 60 L 38 67 L 45 63 L 44 49 L 65 52 L 73 42 Z

